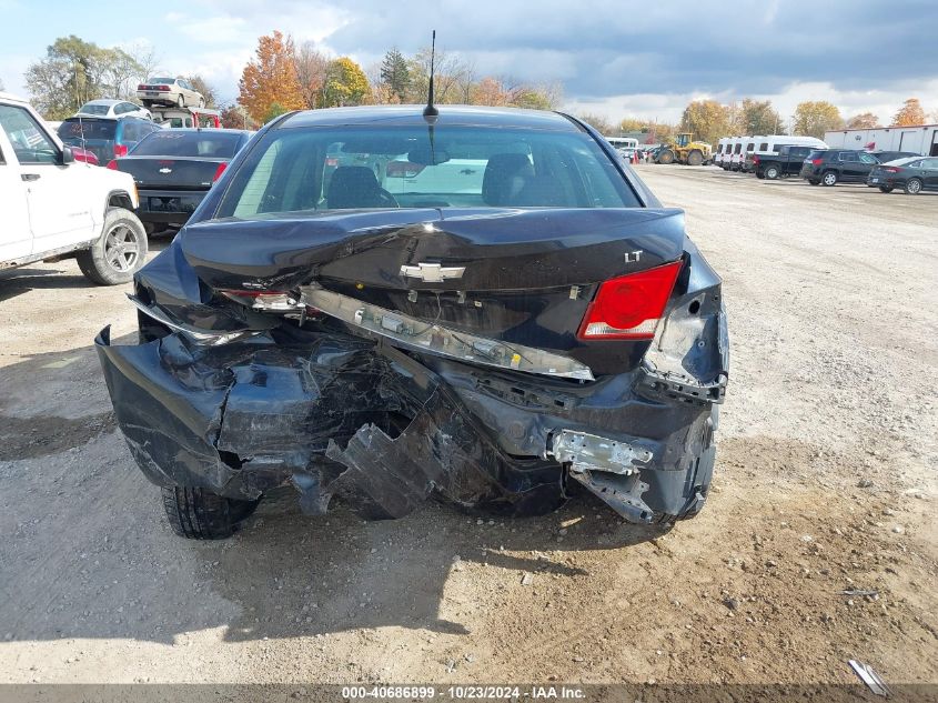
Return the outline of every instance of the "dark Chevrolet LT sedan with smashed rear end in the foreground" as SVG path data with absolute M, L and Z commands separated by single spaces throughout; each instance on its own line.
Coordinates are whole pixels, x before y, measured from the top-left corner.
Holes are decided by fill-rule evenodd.
M 696 514 L 728 373 L 720 279 L 587 125 L 445 106 L 283 116 L 135 277 L 98 351 L 173 530 L 293 486 L 400 518 L 521 515 L 585 486 Z

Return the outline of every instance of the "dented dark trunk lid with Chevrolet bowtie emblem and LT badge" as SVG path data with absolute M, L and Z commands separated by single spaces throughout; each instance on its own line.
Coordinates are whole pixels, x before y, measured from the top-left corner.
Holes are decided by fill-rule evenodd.
M 209 288 L 317 287 L 410 319 L 549 350 L 603 373 L 648 342 L 576 337 L 606 280 L 677 261 L 673 209 L 425 209 L 206 221 L 180 245 Z

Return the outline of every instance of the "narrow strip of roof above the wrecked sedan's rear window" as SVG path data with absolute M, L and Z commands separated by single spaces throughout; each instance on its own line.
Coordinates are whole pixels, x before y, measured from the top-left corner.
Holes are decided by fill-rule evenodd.
M 564 132 L 583 131 L 579 124 L 559 112 L 525 110 L 521 108 L 488 108 L 481 106 L 437 106 L 436 125 L 491 125 L 518 129 L 543 129 Z M 381 124 L 390 127 L 426 125 L 424 106 L 363 106 L 355 108 L 327 108 L 294 112 L 276 128 L 294 127 L 350 127 Z

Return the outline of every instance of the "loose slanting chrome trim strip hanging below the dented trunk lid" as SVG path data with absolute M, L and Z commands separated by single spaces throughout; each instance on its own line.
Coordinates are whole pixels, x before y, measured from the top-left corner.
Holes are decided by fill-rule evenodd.
M 454 332 L 438 324 L 321 288 L 302 287 L 300 290 L 302 302 L 306 305 L 411 349 L 486 366 L 581 381 L 595 380 L 588 366 L 567 356 L 521 344 L 507 344 L 467 332 Z

